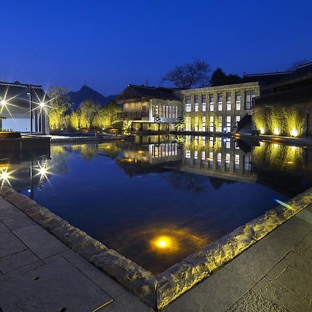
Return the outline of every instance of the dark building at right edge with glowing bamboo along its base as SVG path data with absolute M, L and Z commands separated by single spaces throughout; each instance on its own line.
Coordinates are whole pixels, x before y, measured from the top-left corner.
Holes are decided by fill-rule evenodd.
M 253 108 L 253 123 L 263 134 L 311 136 L 312 63 L 263 85 Z

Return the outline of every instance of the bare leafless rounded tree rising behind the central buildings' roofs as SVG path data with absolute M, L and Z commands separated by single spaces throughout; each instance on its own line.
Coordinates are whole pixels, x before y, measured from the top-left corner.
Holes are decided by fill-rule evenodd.
M 166 73 L 162 82 L 169 81 L 180 89 L 191 89 L 192 87 L 205 87 L 209 85 L 210 65 L 196 58 L 193 62 L 177 65 Z

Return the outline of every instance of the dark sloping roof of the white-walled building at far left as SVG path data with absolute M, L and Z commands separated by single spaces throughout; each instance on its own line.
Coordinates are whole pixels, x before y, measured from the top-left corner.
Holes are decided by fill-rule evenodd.
M 0 100 L 29 101 L 29 87 L 32 89 L 33 102 L 44 102 L 48 96 L 41 85 L 24 85 L 21 83 L 0 82 Z

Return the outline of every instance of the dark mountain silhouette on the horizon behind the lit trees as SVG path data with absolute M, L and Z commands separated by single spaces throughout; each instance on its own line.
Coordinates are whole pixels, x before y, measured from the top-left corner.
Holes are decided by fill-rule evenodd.
M 67 95 L 69 96 L 69 103 L 71 103 L 71 108 L 73 110 L 77 110 L 80 103 L 87 99 L 91 99 L 92 101 L 94 101 L 94 103 L 98 103 L 102 107 L 104 107 L 108 103 L 114 101 L 116 98 L 116 95 L 103 96 L 103 94 L 88 87 L 87 85 L 81 87 L 79 91 L 71 91 Z

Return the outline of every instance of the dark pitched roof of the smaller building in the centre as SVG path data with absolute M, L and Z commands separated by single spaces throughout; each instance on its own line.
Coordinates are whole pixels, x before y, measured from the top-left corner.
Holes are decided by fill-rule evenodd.
M 180 100 L 175 94 L 177 89 L 164 87 L 146 87 L 144 85 L 128 85 L 117 97 L 118 101 L 135 98 L 162 98 L 164 100 Z

